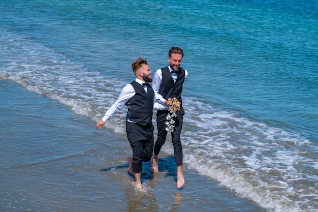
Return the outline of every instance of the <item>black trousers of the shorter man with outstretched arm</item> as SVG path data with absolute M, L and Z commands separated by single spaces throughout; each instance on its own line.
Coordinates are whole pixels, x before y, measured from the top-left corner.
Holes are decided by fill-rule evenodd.
M 133 149 L 133 172 L 142 171 L 142 162 L 150 161 L 153 150 L 153 125 L 126 122 L 126 133 Z

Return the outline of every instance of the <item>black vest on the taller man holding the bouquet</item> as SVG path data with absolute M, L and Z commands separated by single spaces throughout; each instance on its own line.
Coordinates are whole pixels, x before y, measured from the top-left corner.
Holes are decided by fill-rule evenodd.
M 185 79 L 185 71 L 181 67 L 179 67 L 179 74 L 177 77 L 176 82 L 173 81 L 173 78 L 171 76 L 170 70 L 168 67 L 162 68 L 161 69 L 162 74 L 163 74 L 163 79 L 159 87 L 159 94 L 163 96 L 166 100 L 168 98 L 177 98 L 179 102 L 181 103 L 181 108 L 182 108 L 182 99 L 181 99 L 181 94 L 182 94 L 182 85 Z

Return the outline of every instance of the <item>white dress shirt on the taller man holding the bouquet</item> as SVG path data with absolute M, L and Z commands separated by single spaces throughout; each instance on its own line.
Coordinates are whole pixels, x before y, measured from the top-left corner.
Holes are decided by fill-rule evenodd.
M 170 72 L 172 72 L 172 69 L 170 66 L 168 66 Z M 185 71 L 185 75 L 184 78 L 186 78 L 188 76 L 188 72 L 186 70 Z M 174 82 L 176 82 L 178 74 L 172 73 L 171 74 Z M 153 80 L 152 80 L 152 88 L 154 90 L 154 103 L 153 103 L 153 109 L 154 110 L 168 110 L 167 105 L 165 105 L 165 101 L 166 99 L 163 98 L 163 96 L 161 96 L 161 94 L 159 94 L 159 88 L 160 88 L 160 84 L 163 80 L 163 73 L 161 71 L 161 69 L 158 69 L 154 75 L 153 75 Z

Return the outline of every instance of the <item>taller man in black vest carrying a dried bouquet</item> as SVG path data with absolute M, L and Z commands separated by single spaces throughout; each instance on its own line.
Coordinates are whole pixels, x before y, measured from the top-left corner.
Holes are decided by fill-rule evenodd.
M 180 67 L 183 57 L 183 50 L 178 47 L 172 47 L 169 50 L 168 62 L 169 65 L 159 69 L 153 76 L 152 87 L 155 93 L 154 109 L 157 110 L 157 129 L 158 136 L 154 144 L 153 159 L 151 169 L 153 172 L 158 172 L 158 154 L 161 147 L 166 142 L 167 131 L 165 124 L 167 122 L 168 99 L 176 98 L 181 103 L 180 110 L 176 111 L 177 117 L 174 117 L 174 131 L 171 132 L 172 144 L 174 147 L 174 157 L 177 164 L 177 188 L 180 189 L 184 185 L 184 177 L 182 170 L 183 153 L 180 140 L 180 134 L 183 124 L 184 109 L 182 107 L 182 87 L 184 79 L 188 72 Z

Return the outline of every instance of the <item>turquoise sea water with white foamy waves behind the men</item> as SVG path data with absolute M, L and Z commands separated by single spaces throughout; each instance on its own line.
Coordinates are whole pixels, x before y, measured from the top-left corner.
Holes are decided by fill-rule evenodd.
M 154 73 L 179 46 L 184 163 L 265 209 L 316 211 L 317 11 L 308 0 L 1 1 L 0 79 L 94 123 L 137 57 Z M 106 130 L 125 136 L 124 116 Z

